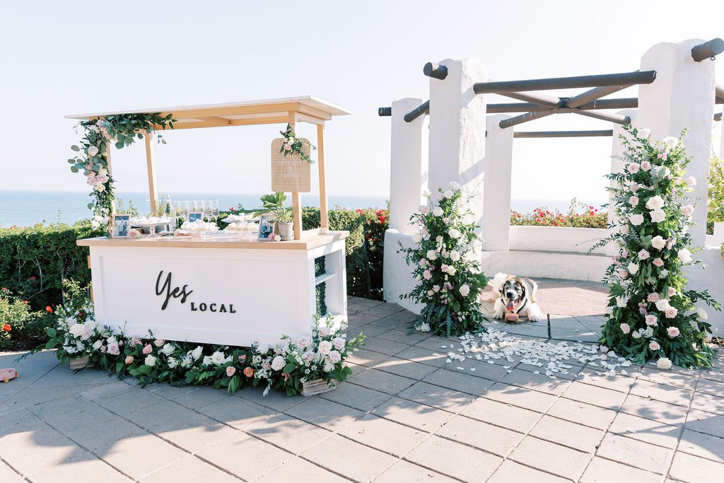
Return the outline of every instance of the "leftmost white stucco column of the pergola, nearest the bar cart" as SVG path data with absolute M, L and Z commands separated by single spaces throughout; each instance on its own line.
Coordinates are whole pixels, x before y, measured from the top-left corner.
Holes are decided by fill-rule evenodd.
M 427 116 L 405 122 L 405 114 L 422 104 L 422 99 L 404 98 L 392 102 L 390 139 L 390 228 L 413 232 L 410 217 L 423 203 L 427 188 Z

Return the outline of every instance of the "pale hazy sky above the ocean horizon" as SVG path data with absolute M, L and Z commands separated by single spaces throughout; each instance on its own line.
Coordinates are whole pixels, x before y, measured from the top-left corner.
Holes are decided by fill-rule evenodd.
M 87 190 L 66 162 L 66 114 L 312 95 L 353 112 L 326 128 L 329 193 L 389 196 L 390 119 L 377 108 L 428 98 L 426 62 L 475 57 L 495 80 L 628 72 L 655 43 L 717 36 L 720 0 L 5 2 L 0 189 Z M 279 128 L 168 133 L 159 191 L 268 191 Z M 559 114 L 518 128 L 610 124 Z M 513 198 L 605 198 L 610 143 L 515 140 Z M 113 167 L 120 190 L 147 189 L 143 143 Z

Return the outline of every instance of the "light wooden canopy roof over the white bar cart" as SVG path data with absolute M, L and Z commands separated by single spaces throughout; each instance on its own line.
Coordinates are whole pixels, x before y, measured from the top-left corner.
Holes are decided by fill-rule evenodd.
M 259 124 L 286 124 L 290 113 L 296 120 L 321 125 L 332 116 L 351 114 L 327 101 L 312 96 L 264 99 L 261 101 L 242 101 L 225 104 L 206 104 L 201 106 L 158 107 L 135 109 L 132 111 L 97 112 L 92 114 L 71 114 L 68 119 L 94 119 L 116 114 L 155 113 L 172 114 L 176 119 L 174 129 L 195 127 L 245 126 Z

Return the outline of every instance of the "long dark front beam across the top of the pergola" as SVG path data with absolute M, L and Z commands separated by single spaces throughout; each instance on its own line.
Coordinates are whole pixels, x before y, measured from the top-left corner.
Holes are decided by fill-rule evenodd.
M 603 87 L 607 85 L 650 84 L 656 79 L 655 70 L 636 70 L 618 74 L 581 75 L 577 77 L 553 77 L 550 79 L 506 80 L 481 82 L 473 85 L 476 94 L 504 94 L 547 89 Z

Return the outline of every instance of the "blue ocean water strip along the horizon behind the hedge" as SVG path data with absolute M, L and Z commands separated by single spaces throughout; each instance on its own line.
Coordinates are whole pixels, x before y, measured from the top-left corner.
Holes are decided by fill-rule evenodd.
M 166 195 L 167 193 L 162 193 Z M 246 193 L 168 193 L 172 200 L 218 200 L 222 209 L 237 206 L 241 203 L 245 208 L 259 206 L 259 194 Z M 119 192 L 117 195 L 125 206 L 132 201 L 140 213 L 148 212 L 148 193 Z M 28 226 L 38 222 L 64 222 L 73 223 L 79 219 L 90 217 L 90 210 L 86 207 L 90 197 L 88 193 L 75 191 L 14 191 L 0 190 L 0 226 L 12 225 Z M 315 195 L 302 195 L 305 206 L 319 206 L 319 199 Z M 387 198 L 383 196 L 329 196 L 329 206 L 342 208 L 384 208 Z M 534 208 L 545 206 L 548 209 L 568 211 L 570 200 L 513 200 L 512 208 L 521 213 L 528 213 Z M 603 201 L 588 201 L 596 207 Z

